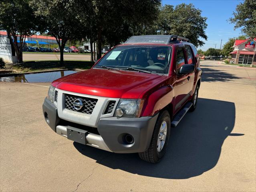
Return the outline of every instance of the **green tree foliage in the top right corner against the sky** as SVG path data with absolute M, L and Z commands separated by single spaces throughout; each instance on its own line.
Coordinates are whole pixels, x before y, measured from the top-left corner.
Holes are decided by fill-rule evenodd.
M 256 1 L 244 0 L 244 2 L 236 6 L 236 11 L 233 12 L 234 17 L 230 18 L 230 22 L 234 23 L 234 28 L 242 27 L 244 32 L 249 37 L 256 37 Z

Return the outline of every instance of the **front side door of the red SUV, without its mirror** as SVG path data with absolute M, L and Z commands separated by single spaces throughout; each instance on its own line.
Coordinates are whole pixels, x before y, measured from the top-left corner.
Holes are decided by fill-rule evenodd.
M 183 104 L 187 101 L 190 95 L 190 76 L 189 74 L 179 74 L 179 70 L 182 65 L 187 64 L 187 57 L 185 56 L 184 46 L 179 46 L 176 48 L 176 81 L 174 86 L 175 91 L 175 108 L 174 111 L 177 112 Z

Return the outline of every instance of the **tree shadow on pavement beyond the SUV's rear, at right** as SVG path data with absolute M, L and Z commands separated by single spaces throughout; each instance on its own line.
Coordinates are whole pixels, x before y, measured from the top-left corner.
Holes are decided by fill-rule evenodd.
M 224 72 L 223 70 L 217 70 L 212 68 L 203 68 L 202 69 L 202 81 L 205 82 L 227 82 L 230 80 L 240 79 L 240 77 Z

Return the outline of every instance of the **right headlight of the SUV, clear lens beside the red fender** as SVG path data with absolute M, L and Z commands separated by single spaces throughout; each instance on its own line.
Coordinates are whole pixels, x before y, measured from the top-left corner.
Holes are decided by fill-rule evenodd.
M 121 99 L 117 104 L 115 116 L 117 117 L 139 117 L 144 100 L 141 99 Z

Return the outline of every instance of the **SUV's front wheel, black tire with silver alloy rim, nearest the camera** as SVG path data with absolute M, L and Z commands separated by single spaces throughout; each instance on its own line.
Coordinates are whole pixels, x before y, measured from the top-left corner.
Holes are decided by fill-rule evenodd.
M 150 163 L 159 162 L 166 152 L 170 137 L 170 130 L 170 115 L 167 110 L 164 110 L 159 114 L 157 122 L 155 123 L 149 148 L 144 152 L 140 152 L 139 157 Z

